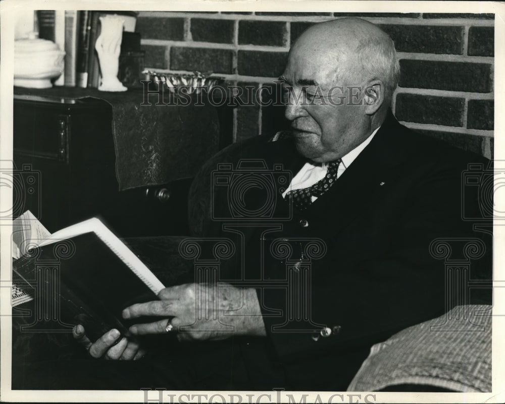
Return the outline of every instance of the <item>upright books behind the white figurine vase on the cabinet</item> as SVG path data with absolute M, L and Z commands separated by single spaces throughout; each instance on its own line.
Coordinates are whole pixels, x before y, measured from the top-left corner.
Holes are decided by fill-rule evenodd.
M 82 88 L 98 87 L 100 70 L 95 43 L 96 38 L 100 35 L 99 18 L 106 14 L 120 14 L 125 20 L 125 33 L 132 34 L 135 31 L 135 12 L 37 11 L 39 38 L 51 40 L 65 51 L 65 70 L 55 81 L 55 85 Z

